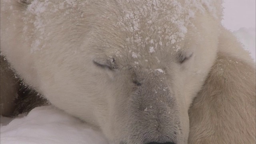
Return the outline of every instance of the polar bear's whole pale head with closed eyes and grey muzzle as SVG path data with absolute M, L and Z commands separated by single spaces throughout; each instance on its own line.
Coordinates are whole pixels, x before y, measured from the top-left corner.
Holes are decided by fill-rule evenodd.
M 186 144 L 189 106 L 216 59 L 219 1 L 15 4 L 1 13 L 1 48 L 54 106 L 99 126 L 111 144 Z

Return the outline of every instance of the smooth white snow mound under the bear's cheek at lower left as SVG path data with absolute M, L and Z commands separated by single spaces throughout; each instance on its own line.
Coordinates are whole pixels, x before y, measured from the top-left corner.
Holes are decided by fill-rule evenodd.
M 2 126 L 6 120 L 1 117 L 1 144 L 108 144 L 100 132 L 53 106 L 34 108 Z

